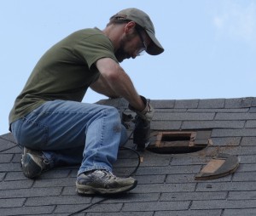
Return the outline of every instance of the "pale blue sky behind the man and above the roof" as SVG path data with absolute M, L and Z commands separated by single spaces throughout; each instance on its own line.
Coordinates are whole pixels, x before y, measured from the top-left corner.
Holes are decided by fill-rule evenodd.
M 125 60 L 139 94 L 150 99 L 254 96 L 256 2 L 253 0 L 2 0 L 0 134 L 9 111 L 44 52 L 73 31 L 103 29 L 121 9 L 144 10 L 166 51 Z M 104 97 L 89 91 L 84 101 Z

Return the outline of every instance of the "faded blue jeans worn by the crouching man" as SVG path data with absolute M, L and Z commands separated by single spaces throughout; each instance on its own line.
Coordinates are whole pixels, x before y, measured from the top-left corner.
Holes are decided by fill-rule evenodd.
M 41 150 L 51 167 L 81 163 L 78 175 L 112 171 L 127 134 L 112 106 L 67 100 L 46 102 L 11 124 L 18 145 Z

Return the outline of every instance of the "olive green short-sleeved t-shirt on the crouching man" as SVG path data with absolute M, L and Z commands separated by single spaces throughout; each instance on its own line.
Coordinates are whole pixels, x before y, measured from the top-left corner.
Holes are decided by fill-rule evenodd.
M 55 99 L 81 101 L 100 73 L 96 60 L 112 58 L 113 43 L 97 28 L 76 31 L 42 56 L 15 100 L 9 123 Z

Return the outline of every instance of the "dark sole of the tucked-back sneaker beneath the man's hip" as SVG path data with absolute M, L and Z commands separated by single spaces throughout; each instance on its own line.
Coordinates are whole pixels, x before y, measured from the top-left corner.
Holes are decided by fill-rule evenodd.
M 26 178 L 33 179 L 42 173 L 42 169 L 38 166 L 38 163 L 34 162 L 33 156 L 30 153 L 22 156 L 21 164 Z

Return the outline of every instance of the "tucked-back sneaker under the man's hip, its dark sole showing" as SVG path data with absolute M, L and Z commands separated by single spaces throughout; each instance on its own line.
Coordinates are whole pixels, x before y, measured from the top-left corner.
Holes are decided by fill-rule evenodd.
M 42 151 L 34 151 L 24 147 L 21 168 L 26 178 L 33 179 L 49 169 L 49 162 Z

